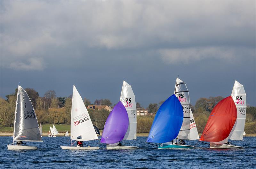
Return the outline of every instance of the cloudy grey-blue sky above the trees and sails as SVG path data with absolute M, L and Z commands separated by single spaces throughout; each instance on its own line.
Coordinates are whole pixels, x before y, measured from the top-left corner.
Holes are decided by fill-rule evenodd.
M 256 106 L 256 1 L 0 1 L 0 96 L 20 85 L 143 107 L 186 82 L 190 102 L 231 95 Z

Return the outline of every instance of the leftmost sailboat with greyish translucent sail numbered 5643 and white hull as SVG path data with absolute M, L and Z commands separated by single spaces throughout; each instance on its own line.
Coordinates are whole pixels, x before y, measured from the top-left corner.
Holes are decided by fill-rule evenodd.
M 37 147 L 22 145 L 22 142 L 43 142 L 35 109 L 21 86 L 18 86 L 13 128 L 13 140 L 7 145 L 8 150 L 35 150 Z

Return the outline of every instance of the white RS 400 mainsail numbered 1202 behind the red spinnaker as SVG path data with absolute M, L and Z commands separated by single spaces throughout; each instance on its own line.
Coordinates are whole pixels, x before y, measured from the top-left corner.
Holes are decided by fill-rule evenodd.
M 243 140 L 246 116 L 246 93 L 244 86 L 238 81 L 235 81 L 231 96 L 236 104 L 237 118 L 228 138 L 231 140 Z

